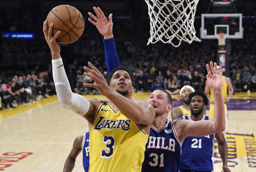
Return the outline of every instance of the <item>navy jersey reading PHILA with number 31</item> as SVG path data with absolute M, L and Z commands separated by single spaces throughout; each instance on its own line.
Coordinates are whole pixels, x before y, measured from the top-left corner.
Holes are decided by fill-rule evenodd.
M 181 144 L 173 122 L 167 120 L 160 130 L 151 125 L 141 171 L 178 172 L 180 155 Z

